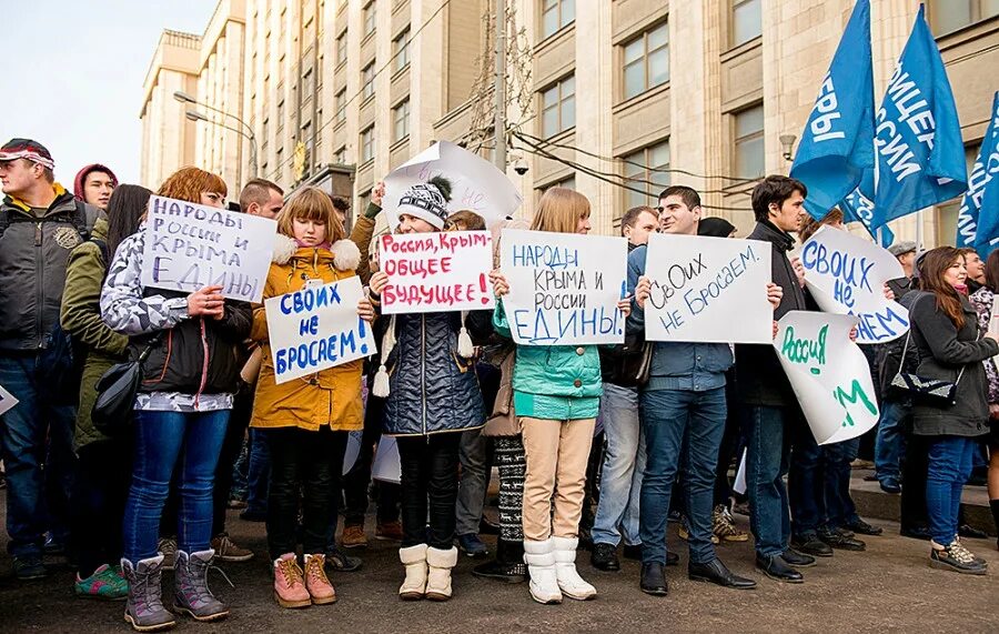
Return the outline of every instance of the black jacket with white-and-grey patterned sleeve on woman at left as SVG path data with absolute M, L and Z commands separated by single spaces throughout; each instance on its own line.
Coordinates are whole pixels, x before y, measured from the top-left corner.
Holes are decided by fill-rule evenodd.
M 186 293 L 142 286 L 144 249 L 145 231 L 140 228 L 119 244 L 101 292 L 104 323 L 130 336 L 130 358 L 137 359 L 151 346 L 142 366 L 137 407 L 231 407 L 239 386 L 242 342 L 250 334 L 250 304 L 226 300 L 221 320 L 189 318 Z

